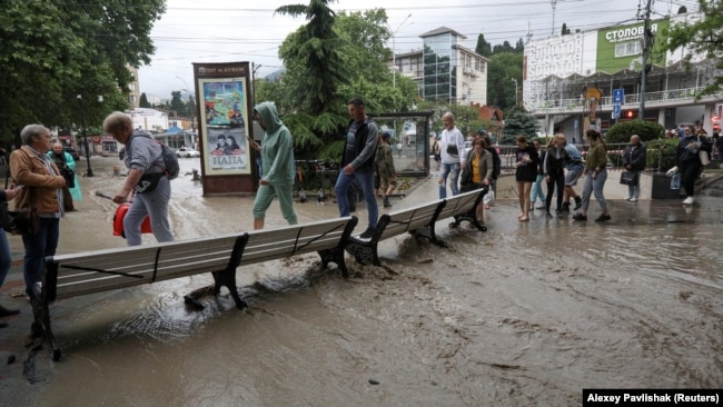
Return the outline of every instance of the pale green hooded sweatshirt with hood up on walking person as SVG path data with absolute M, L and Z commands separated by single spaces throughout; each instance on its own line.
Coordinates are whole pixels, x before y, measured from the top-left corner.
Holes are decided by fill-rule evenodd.
M 284 126 L 274 102 L 263 102 L 254 108 L 264 120 L 261 140 L 261 168 L 264 179 L 270 185 L 293 185 L 296 175 L 294 139 Z

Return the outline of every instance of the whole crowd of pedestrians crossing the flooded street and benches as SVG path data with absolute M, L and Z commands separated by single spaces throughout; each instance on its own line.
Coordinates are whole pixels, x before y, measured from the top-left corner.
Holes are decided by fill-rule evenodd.
M 382 192 L 384 208 L 390 208 L 389 197 L 397 188 L 397 173 L 393 156 L 393 135 L 379 135 L 376 122 L 366 113 L 365 100 L 355 97 L 347 103 L 350 120 L 345 135 L 341 170 L 335 185 L 335 195 L 340 216 L 354 211 L 349 201 L 350 189 L 359 186 L 364 190 L 368 220 L 359 238 L 370 238 L 378 218 L 377 196 Z M 254 108 L 255 119 L 264 129 L 259 142 L 250 147 L 260 153 L 259 189 L 254 204 L 254 228 L 264 228 L 264 218 L 271 200 L 279 200 L 284 218 L 289 225 L 297 224 L 293 202 L 295 179 L 294 140 L 289 130 L 278 117 L 273 102 L 263 102 Z M 442 117 L 444 130 L 430 145 L 437 162 L 438 195 L 440 199 L 452 195 L 487 189 L 494 196 L 496 180 L 501 175 L 499 150 L 491 136 L 483 129 L 474 131 L 465 146 L 465 136 L 455 123 L 452 112 Z M 117 204 L 130 204 L 123 219 L 128 246 L 141 244 L 141 222 L 150 218 L 152 232 L 159 242 L 172 241 L 174 234 L 168 219 L 168 202 L 171 196 L 170 179 L 166 177 L 162 148 L 145 130 L 133 129 L 131 118 L 113 112 L 103 121 L 103 130 L 126 146 L 123 161 L 128 175 L 122 187 L 112 197 Z M 12 183 L 0 190 L 0 205 L 14 201 L 14 208 L 37 214 L 38 225 L 31 232 L 22 235 L 24 246 L 23 275 L 26 292 L 42 279 L 43 259 L 53 256 L 60 236 L 60 219 L 67 211 L 75 210 L 73 199 L 80 200 L 79 182 L 75 175 L 75 161 L 62 150 L 60 142 L 51 140 L 50 130 L 41 125 L 29 125 L 20 132 L 22 147 L 10 156 L 9 171 Z M 680 175 L 685 191 L 684 205 L 694 202 L 695 180 L 701 176 L 705 162 L 712 157 L 723 156 L 723 138 L 715 132 L 710 139 L 701 129 L 683 126 L 666 131 L 666 137 L 677 137 L 675 167 L 667 175 Z M 544 146 L 543 146 L 544 140 Z M 555 199 L 555 216 L 574 212 L 572 219 L 586 221 L 594 197 L 601 212 L 597 222 L 611 220 L 604 187 L 608 177 L 608 156 L 605 141 L 596 130 L 585 132 L 586 156 L 574 143 L 567 142 L 562 133 L 551 138 L 529 140 L 525 136 L 515 138 L 514 152 L 516 192 L 519 207 L 517 219 L 531 220 L 531 212 L 544 209 L 545 218 L 553 218 L 552 204 Z M 633 173 L 636 182 L 628 183 L 628 202 L 637 202 L 641 196 L 640 173 L 645 169 L 647 147 L 637 135 L 631 135 L 630 143 L 622 153 L 625 171 Z M 583 179 L 582 196 L 575 191 L 577 180 Z M 544 181 L 544 182 L 543 182 Z M 545 188 L 544 188 L 545 187 Z M 76 189 L 77 193 L 72 193 Z M 354 187 L 356 189 L 356 187 Z M 539 202 L 539 204 L 537 204 Z M 574 207 L 573 207 L 574 202 Z M 476 218 L 484 222 L 484 210 L 489 201 L 477 208 Z M 3 222 L 7 214 L 0 214 Z M 0 229 L 0 287 L 10 268 L 10 252 L 4 230 Z M 18 310 L 0 306 L 0 317 L 16 315 Z M 0 328 L 7 326 L 0 321 Z

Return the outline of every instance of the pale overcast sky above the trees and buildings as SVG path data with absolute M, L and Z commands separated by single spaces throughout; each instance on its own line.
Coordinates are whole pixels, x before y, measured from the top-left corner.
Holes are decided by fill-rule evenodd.
M 419 34 L 443 26 L 466 36 L 463 44 L 475 49 L 479 33 L 493 46 L 504 41 L 514 46 L 528 27 L 533 39 L 541 39 L 553 31 L 558 34 L 563 23 L 572 31 L 630 23 L 636 20 L 638 1 L 644 8 L 648 0 L 556 0 L 554 13 L 552 0 L 339 0 L 329 4 L 337 12 L 385 8 L 396 33 L 396 51 L 408 52 L 422 47 Z M 257 77 L 280 69 L 279 44 L 306 20 L 274 16 L 274 10 L 297 3 L 308 4 L 308 0 L 167 0 L 167 12 L 151 32 L 156 53 L 139 71 L 140 91 L 168 99 L 174 90 L 192 90 L 192 62 L 254 62 L 260 66 Z M 676 13 L 681 6 L 695 11 L 696 4 L 696 0 L 653 1 L 651 17 Z

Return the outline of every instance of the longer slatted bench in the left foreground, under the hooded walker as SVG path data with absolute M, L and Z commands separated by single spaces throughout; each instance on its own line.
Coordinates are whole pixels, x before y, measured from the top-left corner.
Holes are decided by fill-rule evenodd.
M 226 287 L 237 308 L 242 309 L 247 305 L 236 287 L 238 267 L 311 251 L 319 254 L 323 267 L 335 262 L 346 278 L 344 246 L 356 224 L 356 217 L 345 217 L 221 237 L 48 257 L 43 281 L 33 287 L 30 296 L 34 315 L 32 335 L 44 336 L 53 359 L 59 360 L 60 349 L 50 327 L 50 302 L 209 271 L 214 285 L 185 296 L 186 301 L 202 307 L 198 298 L 218 295 Z

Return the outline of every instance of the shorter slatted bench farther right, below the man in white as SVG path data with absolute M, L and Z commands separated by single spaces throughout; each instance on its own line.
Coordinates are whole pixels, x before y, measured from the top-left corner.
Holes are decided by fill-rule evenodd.
M 370 239 L 351 237 L 345 249 L 363 265 L 380 266 L 377 254 L 379 241 L 397 235 L 408 232 L 418 238 L 426 238 L 437 246 L 447 247 L 447 244 L 437 238 L 435 232 L 435 224 L 439 219 L 453 217 L 455 221 L 450 227 L 467 220 L 478 230 L 486 231 L 487 227 L 478 222 L 475 217 L 475 210 L 482 204 L 486 192 L 486 188 L 477 189 L 430 204 L 384 214 L 379 217 Z

